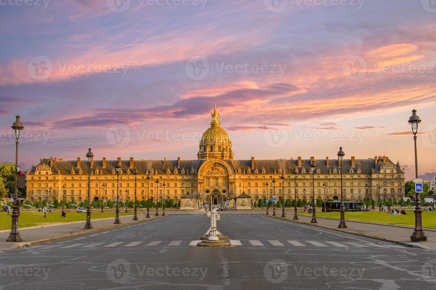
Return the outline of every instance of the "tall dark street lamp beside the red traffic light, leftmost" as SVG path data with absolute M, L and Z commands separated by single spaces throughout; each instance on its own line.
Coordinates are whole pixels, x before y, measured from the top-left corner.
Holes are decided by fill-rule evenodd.
M 15 196 L 15 202 L 12 206 L 12 226 L 10 229 L 9 238 L 7 242 L 22 242 L 20 232 L 18 231 L 18 217 L 20 216 L 20 201 L 18 200 L 17 179 L 18 179 L 18 139 L 20 138 L 20 131 L 24 129 L 23 123 L 20 122 L 20 115 L 15 116 L 15 122 L 12 123 L 11 128 L 15 131 L 15 188 L 14 194 L 11 194 L 11 199 Z

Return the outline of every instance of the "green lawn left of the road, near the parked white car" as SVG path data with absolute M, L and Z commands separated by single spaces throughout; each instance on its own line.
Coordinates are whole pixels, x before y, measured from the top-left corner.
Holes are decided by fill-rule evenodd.
M 85 212 L 66 212 L 67 218 L 61 218 L 61 212 L 48 212 L 47 218 L 44 218 L 43 212 L 25 212 L 21 211 L 18 225 L 20 228 L 32 227 L 35 225 L 46 225 L 61 222 L 86 221 Z M 133 215 L 133 213 L 120 212 L 120 216 Z M 97 218 L 115 218 L 115 212 L 92 212 L 91 219 Z M 0 212 L 0 230 L 10 229 L 11 217 L 6 212 Z

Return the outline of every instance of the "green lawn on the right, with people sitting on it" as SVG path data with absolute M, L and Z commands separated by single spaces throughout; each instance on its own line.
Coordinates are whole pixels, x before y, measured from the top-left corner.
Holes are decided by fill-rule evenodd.
M 380 222 L 391 225 L 415 225 L 415 213 L 412 210 L 406 212 L 407 215 L 389 215 L 384 212 L 345 212 L 345 219 L 363 222 Z M 301 215 L 312 214 L 301 213 Z M 339 219 L 340 212 L 317 212 L 317 216 Z M 436 229 L 436 212 L 422 212 L 422 226 L 424 228 Z

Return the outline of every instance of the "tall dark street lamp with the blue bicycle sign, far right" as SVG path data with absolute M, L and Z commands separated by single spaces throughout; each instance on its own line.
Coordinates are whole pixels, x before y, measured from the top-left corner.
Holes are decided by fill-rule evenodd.
M 413 140 L 415 141 L 415 178 L 418 178 L 418 153 L 416 150 L 416 133 L 418 133 L 418 124 L 421 123 L 421 119 L 416 115 L 416 109 L 412 110 L 412 116 L 409 118 L 409 124 L 412 126 Z M 419 192 L 416 192 L 416 205 L 415 205 L 415 229 L 410 236 L 412 242 L 426 241 L 427 236 L 422 230 L 422 209 L 421 199 L 419 198 Z

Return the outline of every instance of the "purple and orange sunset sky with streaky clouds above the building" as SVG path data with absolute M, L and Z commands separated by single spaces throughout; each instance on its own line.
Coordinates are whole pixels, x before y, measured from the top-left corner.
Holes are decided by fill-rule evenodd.
M 1 2 L 0 162 L 14 162 L 17 114 L 23 169 L 88 147 L 97 160 L 196 159 L 216 99 L 235 159 L 336 158 L 342 146 L 399 160 L 406 180 L 416 109 L 419 174 L 432 178 L 436 8 L 271 1 Z

